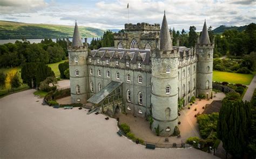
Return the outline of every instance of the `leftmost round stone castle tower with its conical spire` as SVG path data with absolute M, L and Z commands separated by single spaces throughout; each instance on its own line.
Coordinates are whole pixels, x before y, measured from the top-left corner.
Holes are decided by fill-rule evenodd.
M 68 45 L 69 72 L 72 103 L 86 103 L 89 98 L 87 45 L 80 36 L 77 22 L 73 33 L 72 45 Z

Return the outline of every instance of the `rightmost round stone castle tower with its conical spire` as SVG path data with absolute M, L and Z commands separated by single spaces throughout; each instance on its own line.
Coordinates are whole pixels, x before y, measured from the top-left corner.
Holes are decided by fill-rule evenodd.
M 211 44 L 208 36 L 206 22 L 204 23 L 203 31 L 199 42 L 196 44 L 198 53 L 197 63 L 197 96 L 205 95 L 206 99 L 212 95 L 212 67 L 213 67 L 213 49 L 214 44 Z

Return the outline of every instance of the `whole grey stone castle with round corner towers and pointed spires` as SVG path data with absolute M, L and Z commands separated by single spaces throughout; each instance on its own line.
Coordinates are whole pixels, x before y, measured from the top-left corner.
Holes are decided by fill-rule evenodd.
M 214 40 L 213 40 L 214 41 Z M 114 34 L 114 47 L 90 51 L 77 23 L 68 43 L 72 102 L 114 116 L 152 116 L 162 136 L 178 125 L 178 100 L 211 97 L 213 47 L 206 22 L 195 47 L 172 46 L 164 14 L 160 24 L 125 24 Z

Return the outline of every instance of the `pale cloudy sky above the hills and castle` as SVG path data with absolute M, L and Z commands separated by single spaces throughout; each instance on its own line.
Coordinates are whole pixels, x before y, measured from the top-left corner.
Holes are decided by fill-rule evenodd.
M 0 0 L 0 20 L 61 25 L 77 20 L 99 29 L 123 29 L 129 22 L 161 24 L 164 10 L 176 30 L 194 25 L 200 31 L 205 19 L 213 29 L 256 22 L 256 0 Z

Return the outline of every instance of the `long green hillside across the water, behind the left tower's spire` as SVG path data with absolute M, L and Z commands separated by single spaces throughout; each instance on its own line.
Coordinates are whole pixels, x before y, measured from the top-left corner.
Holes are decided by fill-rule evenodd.
M 0 20 L 0 39 L 70 38 L 74 26 L 53 24 L 28 24 Z M 100 37 L 104 30 L 79 26 L 82 37 Z

